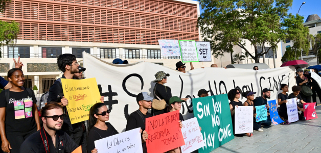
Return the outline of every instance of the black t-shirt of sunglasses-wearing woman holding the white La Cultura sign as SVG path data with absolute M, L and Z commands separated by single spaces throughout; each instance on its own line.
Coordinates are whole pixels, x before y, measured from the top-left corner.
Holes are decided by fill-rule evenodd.
M 91 152 L 91 150 L 95 149 L 95 141 L 103 138 L 107 138 L 112 135 L 119 134 L 118 131 L 109 123 L 106 122 L 107 131 L 100 130 L 97 127 L 93 126 L 88 134 L 88 141 L 87 141 L 87 151 Z

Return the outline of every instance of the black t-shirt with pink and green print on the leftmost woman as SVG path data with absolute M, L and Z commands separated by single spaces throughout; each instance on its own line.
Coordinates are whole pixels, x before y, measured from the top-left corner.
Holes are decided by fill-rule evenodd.
M 32 114 L 32 107 L 37 103 L 37 99 L 33 91 L 32 95 L 29 95 L 27 89 L 21 92 L 9 92 L 8 103 L 5 91 L 0 93 L 0 107 L 6 108 L 6 134 L 24 136 L 36 131 L 37 124 Z

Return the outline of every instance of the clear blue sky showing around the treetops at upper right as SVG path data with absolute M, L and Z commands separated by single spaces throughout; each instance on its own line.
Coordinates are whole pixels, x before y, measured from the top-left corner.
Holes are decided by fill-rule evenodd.
M 311 14 L 317 14 L 321 17 L 321 0 L 293 0 L 292 7 L 288 13 L 296 14 L 303 2 L 306 3 L 301 7 L 299 14 L 304 16 L 304 21 Z M 203 12 L 202 10 L 200 11 L 201 13 Z

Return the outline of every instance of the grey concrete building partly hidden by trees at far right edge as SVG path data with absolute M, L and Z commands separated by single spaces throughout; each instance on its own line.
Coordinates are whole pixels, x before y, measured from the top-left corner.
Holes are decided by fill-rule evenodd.
M 306 21 L 303 23 L 305 27 L 309 27 L 310 34 L 312 35 L 317 35 L 321 33 L 321 18 L 317 14 L 312 14 L 309 15 Z M 284 55 L 284 52 L 287 47 L 292 47 L 293 46 L 293 41 L 292 40 L 286 40 L 285 42 L 282 43 L 282 56 Z M 300 54 L 298 52 L 297 54 Z M 316 60 L 316 53 L 313 52 L 312 47 L 310 48 L 310 52 L 308 55 L 303 54 L 302 58 L 304 61 L 306 61 L 309 65 L 317 65 L 317 60 Z M 300 58 L 301 59 L 301 56 Z

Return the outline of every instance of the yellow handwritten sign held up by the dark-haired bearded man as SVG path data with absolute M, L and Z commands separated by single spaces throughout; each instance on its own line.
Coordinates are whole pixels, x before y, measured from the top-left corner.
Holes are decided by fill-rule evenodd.
M 72 124 L 88 120 L 91 106 L 100 103 L 96 79 L 61 79 L 61 84 L 63 95 L 68 100 L 66 107 Z

